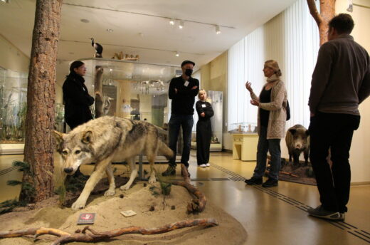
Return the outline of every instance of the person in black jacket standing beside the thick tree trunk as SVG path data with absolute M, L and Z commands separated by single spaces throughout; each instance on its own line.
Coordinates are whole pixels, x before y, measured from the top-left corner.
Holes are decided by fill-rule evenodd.
M 81 61 L 73 61 L 70 64 L 70 73 L 63 84 L 64 118 L 71 130 L 93 119 L 89 106 L 93 105 L 94 98 L 89 95 L 88 88 L 85 86 L 85 79 L 83 79 L 85 73 L 85 64 Z

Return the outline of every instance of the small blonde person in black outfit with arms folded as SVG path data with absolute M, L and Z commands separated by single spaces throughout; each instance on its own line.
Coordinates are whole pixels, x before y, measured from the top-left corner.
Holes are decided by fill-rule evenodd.
M 196 160 L 199 167 L 209 167 L 209 147 L 211 146 L 211 117 L 213 109 L 206 101 L 207 93 L 205 90 L 199 90 L 199 100 L 196 102 L 196 112 L 199 120 L 196 123 Z

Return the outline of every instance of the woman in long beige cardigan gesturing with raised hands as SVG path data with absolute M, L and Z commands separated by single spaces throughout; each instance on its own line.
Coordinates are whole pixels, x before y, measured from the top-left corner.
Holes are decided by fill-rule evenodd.
M 260 96 L 253 93 L 251 83 L 247 81 L 245 88 L 249 91 L 250 103 L 258 106 L 258 147 L 257 165 L 253 177 L 246 179 L 246 184 L 262 184 L 266 170 L 267 153 L 270 152 L 270 172 L 263 187 L 275 187 L 280 171 L 280 140 L 285 137 L 285 122 L 287 119 L 287 91 L 280 80 L 281 71 L 276 61 L 265 62 L 263 73 L 267 83 L 263 85 Z

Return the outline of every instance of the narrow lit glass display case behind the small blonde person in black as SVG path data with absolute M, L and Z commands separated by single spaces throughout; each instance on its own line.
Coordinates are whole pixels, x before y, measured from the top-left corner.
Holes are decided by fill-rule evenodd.
M 223 109 L 223 93 L 222 91 L 207 91 L 207 101 L 211 103 L 213 109 L 213 117 L 211 118 L 212 137 L 211 137 L 211 152 L 222 150 L 222 109 Z M 194 104 L 194 127 L 191 135 L 191 148 L 196 149 L 196 123 L 198 122 L 198 114 L 196 113 Z

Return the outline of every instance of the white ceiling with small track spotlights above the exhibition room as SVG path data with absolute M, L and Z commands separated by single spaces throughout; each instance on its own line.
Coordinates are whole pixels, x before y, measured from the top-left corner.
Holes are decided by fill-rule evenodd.
M 199 68 L 295 1 L 64 0 L 58 60 L 92 57 L 93 37 L 103 46 L 104 58 L 122 51 L 139 55 L 142 63 L 178 66 L 189 59 Z M 35 4 L 36 0 L 0 1 L 0 34 L 28 57 Z M 176 19 L 174 26 L 170 18 Z M 218 35 L 216 25 L 221 26 Z

